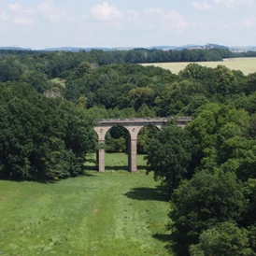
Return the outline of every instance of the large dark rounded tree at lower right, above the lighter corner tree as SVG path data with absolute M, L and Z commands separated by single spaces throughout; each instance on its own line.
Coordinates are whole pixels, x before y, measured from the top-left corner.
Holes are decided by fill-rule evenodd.
M 174 248 L 187 255 L 190 245 L 198 243 L 206 229 L 223 221 L 238 221 L 247 206 L 243 186 L 234 174 L 206 171 L 184 181 L 173 193 Z

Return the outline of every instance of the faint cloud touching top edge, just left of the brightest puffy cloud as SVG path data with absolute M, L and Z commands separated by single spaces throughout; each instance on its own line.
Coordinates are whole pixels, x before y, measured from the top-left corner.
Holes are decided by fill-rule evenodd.
M 54 6 L 54 0 L 45 0 L 38 7 L 40 13 L 49 21 L 73 21 L 73 18 L 68 15 L 64 10 Z

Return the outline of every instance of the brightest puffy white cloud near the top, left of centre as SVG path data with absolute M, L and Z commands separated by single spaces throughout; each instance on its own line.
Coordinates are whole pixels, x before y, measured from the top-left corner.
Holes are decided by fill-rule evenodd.
M 92 17 L 98 21 L 117 21 L 122 14 L 117 7 L 110 7 L 107 2 L 98 4 L 91 8 Z

